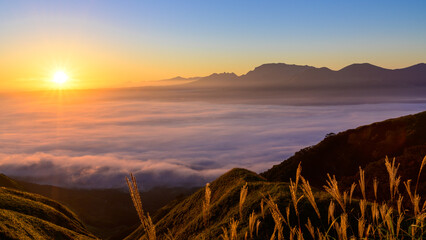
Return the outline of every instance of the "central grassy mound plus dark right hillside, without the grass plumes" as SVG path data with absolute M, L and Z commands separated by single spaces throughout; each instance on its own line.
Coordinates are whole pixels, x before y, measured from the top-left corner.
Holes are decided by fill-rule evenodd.
M 157 236 L 165 236 L 165 234 L 170 233 L 175 239 L 219 239 L 224 231 L 223 228 L 228 228 L 230 220 L 236 219 L 240 221 L 237 224 L 238 238 L 244 239 L 244 234 L 249 232 L 248 219 L 250 213 L 254 211 L 256 218 L 260 219 L 261 223 L 259 225 L 259 235 L 253 239 L 269 239 L 274 232 L 275 223 L 269 213 L 270 207 L 265 205 L 267 210 L 264 211 L 264 217 L 260 207 L 262 199 L 269 195 L 277 204 L 283 216 L 286 214 L 285 209 L 289 207 L 290 225 L 297 226 L 298 220 L 293 210 L 294 202 L 292 201 L 289 181 L 290 178 L 293 180 L 296 178 L 296 169 L 299 163 L 301 163 L 303 168 L 302 176 L 313 186 L 313 196 L 322 216 L 321 218 L 317 217 L 313 206 L 304 193 L 304 197 L 298 203 L 303 235 L 305 237 L 309 236 L 309 231 L 305 225 L 308 218 L 314 226 L 320 226 L 319 228 L 324 228 L 330 224 L 324 216 L 329 215 L 328 209 L 331 206 L 331 195 L 326 191 L 320 190 L 324 189 L 323 185 L 326 185 L 327 173 L 330 173 L 336 175 L 338 182 L 336 182 L 336 186 L 343 187 L 341 191 L 346 191 L 343 194 L 344 200 L 342 202 L 344 202 L 345 208 L 349 209 L 347 214 L 342 213 L 343 207 L 339 207 L 339 209 L 334 209 L 333 207 L 333 211 L 340 211 L 338 214 L 348 217 L 347 224 L 350 226 L 345 229 L 348 231 L 349 236 L 357 236 L 359 233 L 353 231 L 357 231 L 357 227 L 360 227 L 357 224 L 362 215 L 360 211 L 363 212 L 362 204 L 359 200 L 362 199 L 359 185 L 354 189 L 354 198 L 352 200 L 348 199 L 352 198 L 352 194 L 349 193 L 350 185 L 354 182 L 358 183 L 360 179 L 358 167 L 361 166 L 365 169 L 366 200 L 371 200 L 371 203 L 366 202 L 366 206 L 368 206 L 370 211 L 373 211 L 374 204 L 379 203 L 382 204 L 381 214 L 387 208 L 389 208 L 389 214 L 392 214 L 392 208 L 396 209 L 396 206 L 393 206 L 395 202 L 389 200 L 389 174 L 385 168 L 384 157 L 386 155 L 396 156 L 397 164 L 400 163 L 397 176 L 401 175 L 401 181 L 407 179 L 417 180 L 416 176 L 422 159 L 426 156 L 425 123 L 426 112 L 422 112 L 373 123 L 339 134 L 330 134 L 317 145 L 299 151 L 293 157 L 261 175 L 244 169 L 233 169 L 210 184 L 212 195 L 210 217 L 207 224 L 203 222 L 202 206 L 206 195 L 205 188 L 203 188 L 181 201 L 170 203 L 153 216 Z M 423 196 L 426 193 L 425 176 L 426 174 L 421 175 L 417 191 L 422 199 L 419 201 L 421 205 L 424 202 Z M 373 197 L 373 177 L 376 177 L 379 181 L 377 198 Z M 248 195 L 243 205 L 242 218 L 240 218 L 239 200 L 241 189 L 245 183 L 248 186 Z M 404 222 L 401 226 L 407 227 L 410 226 L 410 219 L 413 219 L 409 215 L 412 212 L 412 209 L 410 210 L 410 197 L 401 186 L 399 193 L 401 194 L 400 196 L 404 196 L 404 201 L 401 200 L 401 203 L 406 210 L 403 212 L 408 215 L 406 220 L 404 220 L 407 222 Z M 300 194 L 301 191 L 297 191 L 297 195 L 300 196 Z M 339 197 L 333 196 L 333 199 L 332 202 L 337 204 Z M 425 208 L 423 207 L 422 211 L 424 210 Z M 392 216 L 396 217 L 395 215 Z M 373 218 L 372 221 L 374 222 L 374 217 L 369 217 Z M 382 215 L 382 218 L 384 219 L 384 215 Z M 282 221 L 284 222 L 285 220 Z M 338 229 L 336 226 L 334 228 Z M 382 226 L 377 225 L 377 229 Z M 328 227 L 325 227 L 322 231 L 328 232 L 327 229 Z M 328 232 L 328 234 L 336 234 L 333 231 Z M 383 231 L 383 228 L 380 231 Z M 288 239 L 290 234 L 288 229 L 284 230 L 283 233 L 285 239 Z M 423 232 L 418 232 L 417 234 L 419 234 L 420 238 L 416 239 L 424 237 Z M 126 239 L 139 239 L 141 236 L 144 236 L 144 230 L 139 227 Z M 162 238 L 160 237 L 160 239 Z

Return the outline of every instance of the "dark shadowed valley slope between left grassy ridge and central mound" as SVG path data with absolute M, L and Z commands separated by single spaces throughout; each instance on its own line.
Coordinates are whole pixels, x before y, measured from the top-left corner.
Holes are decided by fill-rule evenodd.
M 40 194 L 65 204 L 85 226 L 102 239 L 123 239 L 138 226 L 129 193 L 122 189 L 68 189 L 14 180 L 0 174 L 0 187 Z M 142 195 L 146 211 L 156 212 L 194 189 L 153 188 Z

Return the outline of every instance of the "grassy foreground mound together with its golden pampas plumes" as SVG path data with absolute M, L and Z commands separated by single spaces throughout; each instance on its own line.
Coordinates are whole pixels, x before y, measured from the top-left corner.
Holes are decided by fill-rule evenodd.
M 426 157 L 412 184 L 401 180 L 395 159 L 386 158 L 388 183 L 367 186 L 359 168 L 359 180 L 347 191 L 330 175 L 325 191 L 312 188 L 300 164 L 289 183 L 267 182 L 234 169 L 164 209 L 155 225 L 143 214 L 141 203 L 135 203 L 142 228 L 128 239 L 425 239 L 426 201 L 417 193 L 425 164 Z M 128 183 L 138 202 L 134 177 L 132 185 Z M 372 199 L 365 194 L 370 187 Z M 387 188 L 389 198 L 379 201 L 378 188 Z M 353 198 L 355 190 L 361 192 L 360 199 Z

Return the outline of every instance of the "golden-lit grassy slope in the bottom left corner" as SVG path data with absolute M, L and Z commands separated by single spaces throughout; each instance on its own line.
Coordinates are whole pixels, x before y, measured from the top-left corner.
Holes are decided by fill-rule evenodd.
M 40 195 L 1 187 L 0 239 L 96 238 L 63 205 Z

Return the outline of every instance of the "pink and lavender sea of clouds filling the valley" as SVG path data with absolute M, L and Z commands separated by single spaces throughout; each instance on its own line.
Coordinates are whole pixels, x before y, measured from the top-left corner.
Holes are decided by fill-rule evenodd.
M 419 104 L 282 106 L 0 99 L 0 173 L 66 187 L 200 186 L 262 172 L 330 132 L 420 112 Z

